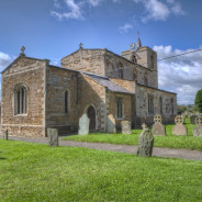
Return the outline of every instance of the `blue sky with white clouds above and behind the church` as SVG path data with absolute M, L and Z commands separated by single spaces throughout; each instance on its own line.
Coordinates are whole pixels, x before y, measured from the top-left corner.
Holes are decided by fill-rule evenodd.
M 0 0 L 0 70 L 20 53 L 54 65 L 79 47 L 121 54 L 141 33 L 158 58 L 202 48 L 201 0 Z M 193 103 L 202 52 L 159 61 L 159 88 Z

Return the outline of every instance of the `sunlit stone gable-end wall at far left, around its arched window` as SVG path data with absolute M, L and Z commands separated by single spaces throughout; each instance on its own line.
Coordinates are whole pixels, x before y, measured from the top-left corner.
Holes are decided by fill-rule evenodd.
M 45 69 L 47 60 L 18 58 L 2 72 L 2 130 L 9 135 L 45 136 Z M 14 87 L 27 87 L 27 112 L 14 114 Z

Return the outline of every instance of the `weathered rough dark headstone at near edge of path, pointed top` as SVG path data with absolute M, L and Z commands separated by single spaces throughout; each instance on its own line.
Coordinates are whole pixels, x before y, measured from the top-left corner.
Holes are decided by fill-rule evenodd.
M 143 125 L 143 131 L 138 139 L 137 155 L 142 157 L 149 157 L 153 154 L 154 136 L 153 133 Z

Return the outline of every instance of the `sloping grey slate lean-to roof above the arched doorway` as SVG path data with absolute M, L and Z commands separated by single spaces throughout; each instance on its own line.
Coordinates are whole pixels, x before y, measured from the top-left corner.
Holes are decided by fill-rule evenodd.
M 85 74 L 88 75 L 88 77 L 90 77 L 92 80 L 94 80 L 99 85 L 101 85 L 103 87 L 106 87 L 108 90 L 110 90 L 112 92 L 121 92 L 121 93 L 127 93 L 127 94 L 135 94 L 134 92 L 132 92 L 132 91 L 123 88 L 122 86 L 113 82 L 108 77 L 101 77 L 101 76 L 91 75 L 91 74 L 88 74 L 88 72 L 85 72 Z

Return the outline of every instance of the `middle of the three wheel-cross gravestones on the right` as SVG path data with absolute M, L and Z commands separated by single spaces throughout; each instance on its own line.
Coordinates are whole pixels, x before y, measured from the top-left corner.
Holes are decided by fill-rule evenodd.
M 176 125 L 172 128 L 173 135 L 187 135 L 187 127 L 183 125 L 183 116 L 177 115 L 175 119 Z

